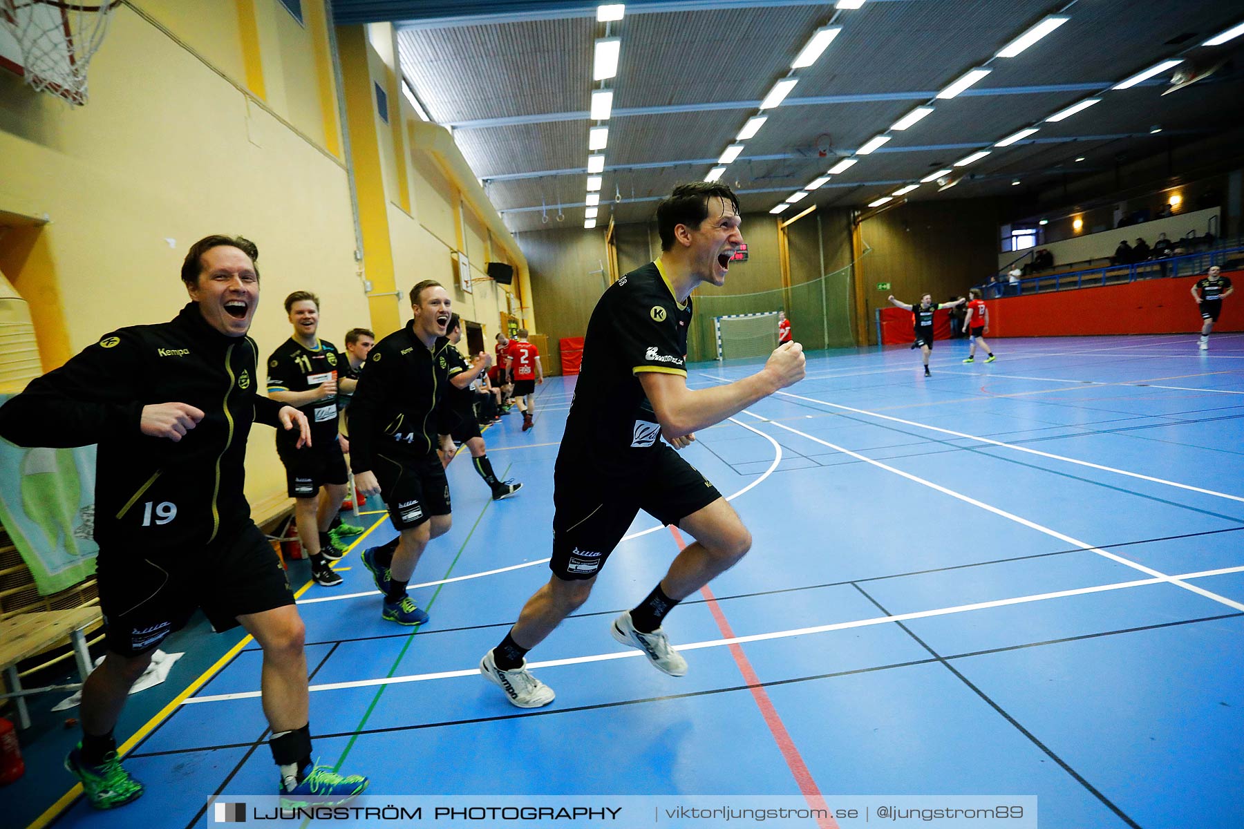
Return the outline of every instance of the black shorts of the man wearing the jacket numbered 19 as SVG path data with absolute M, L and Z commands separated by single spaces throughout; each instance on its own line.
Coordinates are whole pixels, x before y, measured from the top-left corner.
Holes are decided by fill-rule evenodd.
M 294 604 L 281 559 L 254 523 L 204 549 L 144 557 L 101 548 L 96 580 L 108 650 L 136 656 L 180 630 L 198 608 L 216 631 L 238 616 Z

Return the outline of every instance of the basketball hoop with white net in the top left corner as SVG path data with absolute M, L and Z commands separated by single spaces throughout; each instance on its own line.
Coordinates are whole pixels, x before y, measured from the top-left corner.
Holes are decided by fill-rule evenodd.
M 108 19 L 122 0 L 76 5 L 58 0 L 0 0 L 0 41 L 11 39 L 10 57 L 0 65 L 26 78 L 31 88 L 70 103 L 87 99 L 86 71 L 108 31 Z

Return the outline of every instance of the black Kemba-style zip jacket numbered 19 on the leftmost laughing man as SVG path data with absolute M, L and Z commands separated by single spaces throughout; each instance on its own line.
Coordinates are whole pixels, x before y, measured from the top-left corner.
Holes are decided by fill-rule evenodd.
M 20 446 L 98 444 L 95 538 L 148 557 L 187 556 L 250 522 L 243 495 L 251 421 L 279 426 L 256 394 L 258 349 L 190 302 L 172 322 L 104 334 L 0 408 Z M 185 403 L 203 420 L 179 441 L 142 434 L 144 405 Z

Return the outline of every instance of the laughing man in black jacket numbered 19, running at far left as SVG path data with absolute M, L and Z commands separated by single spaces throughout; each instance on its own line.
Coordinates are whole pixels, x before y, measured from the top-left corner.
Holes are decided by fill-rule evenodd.
M 240 624 L 264 649 L 264 713 L 285 804 L 312 793 L 343 800 L 367 787 L 367 778 L 312 767 L 302 619 L 243 495 L 251 421 L 310 440 L 297 409 L 256 394 L 246 332 L 259 305 L 258 259 L 241 237 L 195 242 L 182 263 L 190 302 L 173 321 L 106 334 L 0 409 L 0 435 L 21 446 L 98 444 L 107 656 L 82 689 L 82 742 L 65 767 L 100 809 L 143 793 L 117 758 L 112 730 L 152 653 L 195 608 L 218 631 Z

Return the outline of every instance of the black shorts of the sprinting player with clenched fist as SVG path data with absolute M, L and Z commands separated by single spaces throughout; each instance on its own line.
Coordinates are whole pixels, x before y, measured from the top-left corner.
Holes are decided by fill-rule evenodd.
M 666 444 L 651 450 L 651 466 L 624 477 L 603 476 L 582 460 L 557 464 L 554 472 L 552 559 L 559 578 L 590 579 L 618 546 L 643 510 L 663 524 L 678 526 L 722 497 L 717 487 Z

